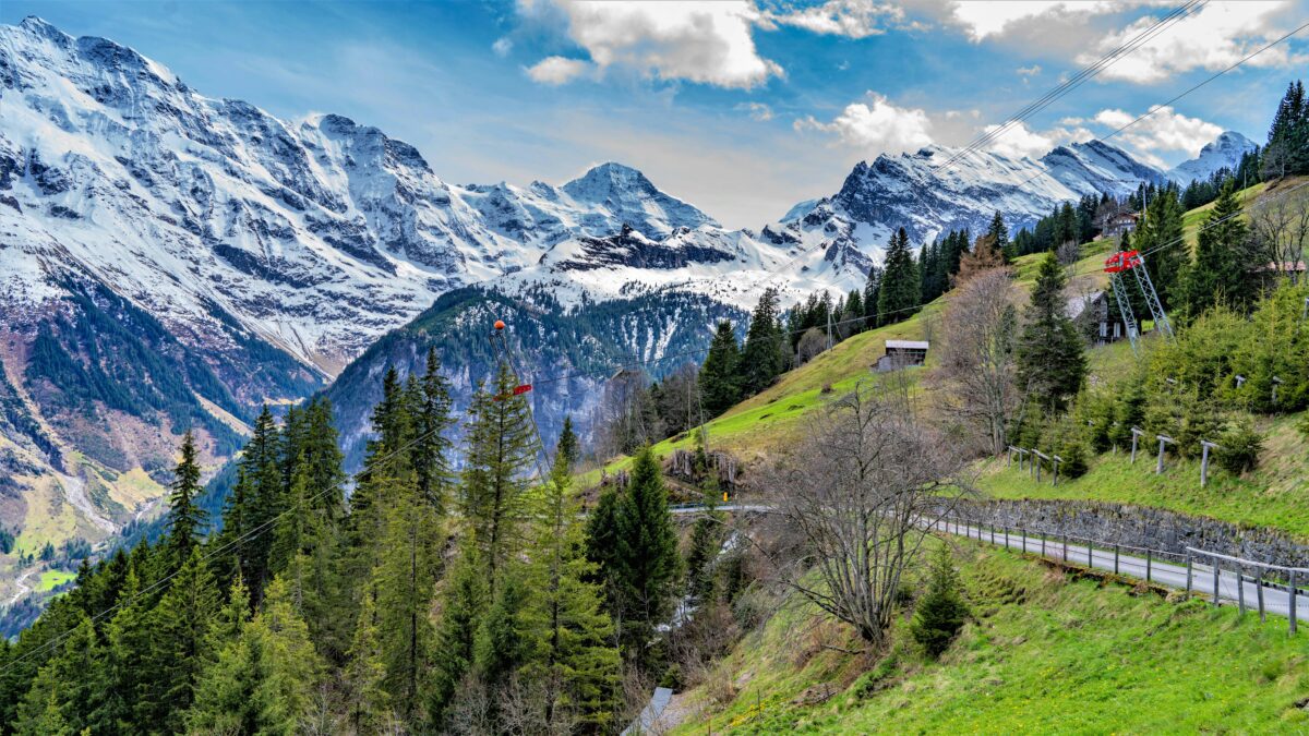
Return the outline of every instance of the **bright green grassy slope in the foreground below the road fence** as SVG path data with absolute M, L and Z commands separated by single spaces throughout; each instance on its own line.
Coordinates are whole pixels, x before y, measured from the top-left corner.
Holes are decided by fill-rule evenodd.
M 1284 619 L 1164 600 L 959 547 L 975 621 L 940 661 L 897 623 L 885 659 L 843 627 L 783 609 L 690 690 L 677 733 L 1295 733 L 1309 652 Z M 801 705 L 806 689 L 836 694 Z M 810 690 L 812 691 L 812 690 Z

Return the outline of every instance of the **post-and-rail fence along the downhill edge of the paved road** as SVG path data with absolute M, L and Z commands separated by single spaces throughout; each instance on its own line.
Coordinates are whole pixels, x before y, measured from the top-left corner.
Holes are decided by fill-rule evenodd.
M 1284 616 L 1291 634 L 1296 633 L 1299 619 L 1309 614 L 1309 596 L 1301 588 L 1302 581 L 1309 581 L 1309 568 L 1304 567 L 1257 562 L 1195 547 L 1175 553 L 1105 542 L 1067 532 L 1009 526 L 954 515 L 940 516 L 931 523 L 931 528 L 1009 550 L 1111 571 L 1149 584 L 1185 589 L 1187 597 L 1203 595 L 1213 605 L 1234 602 L 1241 616 L 1257 610 L 1261 621 L 1267 621 L 1270 613 Z

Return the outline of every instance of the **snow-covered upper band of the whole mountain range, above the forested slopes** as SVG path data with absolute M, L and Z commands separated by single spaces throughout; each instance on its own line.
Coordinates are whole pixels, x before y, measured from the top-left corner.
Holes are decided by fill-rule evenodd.
M 615 162 L 562 186 L 450 185 L 411 145 L 339 115 L 279 120 L 38 18 L 0 29 L 0 265 L 24 303 L 75 271 L 203 343 L 212 305 L 334 373 L 459 285 L 565 305 L 660 291 L 749 306 L 861 285 L 895 228 L 915 242 L 1012 228 L 1162 174 L 1100 141 L 1039 161 L 953 151 L 861 162 L 830 198 L 726 230 Z M 217 338 L 215 338 L 217 339 Z

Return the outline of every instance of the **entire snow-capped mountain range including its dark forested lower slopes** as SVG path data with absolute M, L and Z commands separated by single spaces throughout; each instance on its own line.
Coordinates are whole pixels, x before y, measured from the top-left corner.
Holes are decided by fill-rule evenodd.
M 933 147 L 732 230 L 617 162 L 558 186 L 449 183 L 374 127 L 206 97 L 39 18 L 0 26 L 0 477 L 52 499 L 107 487 L 73 504 L 85 538 L 157 500 L 181 428 L 216 465 L 262 402 L 346 365 L 364 386 L 437 344 L 466 396 L 488 354 L 452 340 L 487 305 L 568 335 L 533 343 L 554 364 L 598 371 L 538 394 L 562 415 L 596 399 L 596 355 L 685 355 L 766 287 L 784 304 L 861 287 L 895 228 L 922 242 L 996 210 L 1017 227 L 1162 177 L 1096 141 L 944 169 L 953 151 Z M 355 440 L 367 396 L 338 392 Z

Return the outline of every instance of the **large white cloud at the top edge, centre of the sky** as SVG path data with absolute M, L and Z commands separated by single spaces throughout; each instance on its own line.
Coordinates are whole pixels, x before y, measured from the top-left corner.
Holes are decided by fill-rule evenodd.
M 761 56 L 755 48 L 754 26 L 766 18 L 749 0 L 555 3 L 565 16 L 568 37 L 586 50 L 601 72 L 627 67 L 665 80 L 740 89 L 783 75 L 780 65 Z M 521 7 L 533 10 L 537 4 L 525 1 Z M 545 59 L 533 69 L 551 59 L 558 56 Z M 575 64 L 555 62 L 542 69 L 539 81 L 562 84 L 580 72 Z

